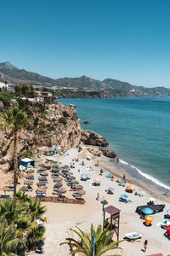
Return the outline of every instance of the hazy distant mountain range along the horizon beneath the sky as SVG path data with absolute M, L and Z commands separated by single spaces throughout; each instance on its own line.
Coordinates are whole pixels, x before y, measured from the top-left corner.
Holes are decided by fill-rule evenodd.
M 128 84 L 115 79 L 99 81 L 86 76 L 80 78 L 50 79 L 38 73 L 28 72 L 25 69 L 14 67 L 10 62 L 0 63 L 0 82 L 7 81 L 12 84 L 32 84 L 55 88 L 68 88 L 72 90 L 102 91 L 111 97 L 126 96 L 170 96 L 170 89 L 165 87 L 145 88 Z

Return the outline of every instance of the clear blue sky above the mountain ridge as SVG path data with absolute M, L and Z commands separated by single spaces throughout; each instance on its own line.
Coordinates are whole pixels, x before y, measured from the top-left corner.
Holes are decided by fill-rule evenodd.
M 0 62 L 170 87 L 168 0 L 10 0 L 0 9 Z

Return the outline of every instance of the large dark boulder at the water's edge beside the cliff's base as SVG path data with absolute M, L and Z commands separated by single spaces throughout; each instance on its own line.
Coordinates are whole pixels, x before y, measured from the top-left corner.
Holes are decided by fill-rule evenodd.
M 98 133 L 89 130 L 83 131 L 81 141 L 86 145 L 98 147 L 107 147 L 109 145 L 109 143 L 107 143 L 105 140 L 105 137 L 102 137 Z

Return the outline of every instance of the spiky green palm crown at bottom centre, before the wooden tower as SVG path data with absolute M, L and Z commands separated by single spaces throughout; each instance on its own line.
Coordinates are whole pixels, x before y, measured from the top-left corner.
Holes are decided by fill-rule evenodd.
M 109 230 L 109 226 L 105 230 L 102 230 L 101 225 L 98 225 L 97 230 L 94 231 L 94 225 L 91 224 L 90 237 L 88 237 L 78 227 L 77 227 L 77 230 L 72 230 L 72 231 L 76 233 L 77 236 L 79 236 L 80 241 L 77 241 L 76 239 L 73 239 L 73 238 L 66 238 L 65 239 L 66 241 L 60 244 L 60 245 L 68 244 L 70 247 L 74 247 L 75 249 L 70 254 L 81 252 L 86 256 L 100 256 L 105 252 L 111 251 L 114 249 L 122 250 L 121 247 L 117 247 L 121 241 L 114 241 L 114 242 L 111 241 L 114 232 Z M 94 233 L 95 233 L 95 241 L 94 241 Z

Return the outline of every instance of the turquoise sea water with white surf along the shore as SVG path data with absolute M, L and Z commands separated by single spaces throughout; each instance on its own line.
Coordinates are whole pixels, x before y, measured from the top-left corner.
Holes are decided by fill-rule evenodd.
M 124 164 L 170 187 L 170 98 L 59 99 L 77 106 L 83 130 L 104 136 Z M 87 119 L 89 124 L 84 125 Z M 165 186 L 165 184 L 167 186 Z

